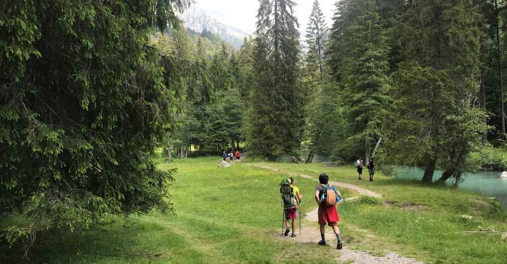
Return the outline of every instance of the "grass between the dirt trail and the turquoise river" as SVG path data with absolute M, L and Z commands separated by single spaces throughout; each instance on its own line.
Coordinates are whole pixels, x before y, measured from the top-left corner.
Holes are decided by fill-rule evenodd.
M 325 172 L 333 181 L 353 183 L 382 194 L 382 202 L 361 197 L 340 205 L 342 237 L 353 248 L 380 255 L 394 251 L 430 263 L 507 262 L 507 243 L 501 241 L 500 234 L 461 234 L 481 229 L 507 232 L 507 213 L 484 196 L 392 179 L 382 173 L 375 175 L 374 182 L 359 181 L 352 166 L 250 163 L 315 178 Z

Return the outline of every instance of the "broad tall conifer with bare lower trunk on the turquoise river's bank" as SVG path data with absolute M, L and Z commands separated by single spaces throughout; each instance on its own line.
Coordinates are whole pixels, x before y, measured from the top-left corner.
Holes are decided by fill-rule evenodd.
M 413 1 L 407 8 L 400 39 L 405 60 L 393 90 L 394 135 L 400 153 L 426 160 L 422 181 L 430 183 L 442 138 L 463 133 L 447 130 L 446 117 L 461 116 L 455 102 L 477 88 L 479 16 L 471 0 Z

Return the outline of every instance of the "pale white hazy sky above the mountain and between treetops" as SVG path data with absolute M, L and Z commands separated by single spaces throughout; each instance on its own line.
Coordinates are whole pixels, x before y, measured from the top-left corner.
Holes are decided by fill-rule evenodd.
M 257 21 L 258 0 L 195 0 L 196 6 L 214 16 L 220 16 L 224 24 L 235 26 L 249 33 L 255 31 Z M 295 0 L 295 14 L 300 24 L 300 31 L 304 32 L 308 17 L 312 11 L 314 0 Z M 336 0 L 319 0 L 320 8 L 331 26 L 331 16 L 334 12 Z

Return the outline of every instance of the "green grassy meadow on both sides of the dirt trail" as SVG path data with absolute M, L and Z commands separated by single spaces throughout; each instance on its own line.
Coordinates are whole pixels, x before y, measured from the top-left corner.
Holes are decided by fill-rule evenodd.
M 331 247 L 297 244 L 276 238 L 281 209 L 278 182 L 282 172 L 246 166 L 218 168 L 220 158 L 200 158 L 161 164 L 178 168 L 171 186 L 176 215 L 152 213 L 123 222 L 95 226 L 80 234 L 38 233 L 38 242 L 22 257 L 22 248 L 0 245 L 0 263 L 268 263 L 334 262 Z M 479 195 L 446 187 L 393 180 L 382 175 L 376 182 L 357 181 L 351 167 L 323 168 L 319 164 L 258 163 L 293 174 L 321 172 L 331 180 L 355 183 L 384 195 L 384 205 L 368 200 L 340 206 L 340 229 L 345 246 L 384 254 L 395 251 L 426 262 L 505 263 L 507 243 L 499 235 L 461 235 L 457 232 L 490 228 L 507 232 L 507 220 L 470 199 Z M 367 178 L 367 176 L 366 176 Z M 316 182 L 297 177 L 303 210 L 315 208 Z M 344 197 L 354 196 L 340 190 Z M 472 220 L 461 214 L 473 215 Z M 14 221 L 14 220 L 13 220 Z M 315 223 L 303 222 L 304 225 Z M 316 234 L 318 236 L 318 234 Z M 332 253 L 332 254 L 329 254 Z

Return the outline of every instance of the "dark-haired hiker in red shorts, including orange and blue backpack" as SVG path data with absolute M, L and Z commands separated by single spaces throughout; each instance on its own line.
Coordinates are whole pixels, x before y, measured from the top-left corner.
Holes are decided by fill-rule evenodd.
M 338 221 L 340 217 L 336 211 L 336 203 L 341 199 L 342 195 L 335 187 L 329 185 L 329 177 L 325 173 L 318 176 L 320 182 L 315 187 L 315 201 L 318 204 L 318 223 L 320 225 L 320 237 L 322 240 L 318 242 L 319 245 L 325 245 L 325 224 L 333 227 L 338 243 L 336 249 L 342 249 L 342 240 L 340 239 L 340 230 L 338 229 Z

